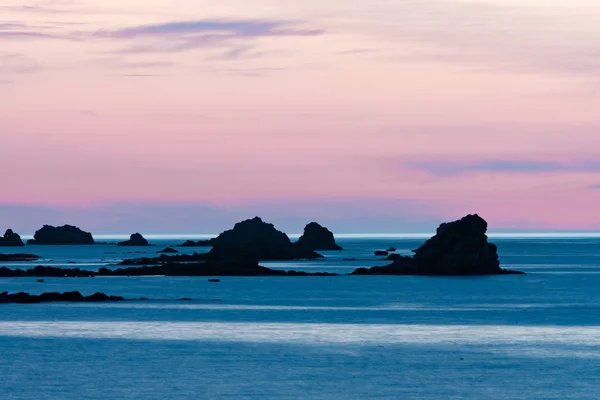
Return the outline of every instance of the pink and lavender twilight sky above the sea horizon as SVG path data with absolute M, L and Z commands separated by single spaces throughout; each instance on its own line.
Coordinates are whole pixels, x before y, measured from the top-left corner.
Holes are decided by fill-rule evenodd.
M 0 229 L 600 231 L 596 0 L 3 0 Z

